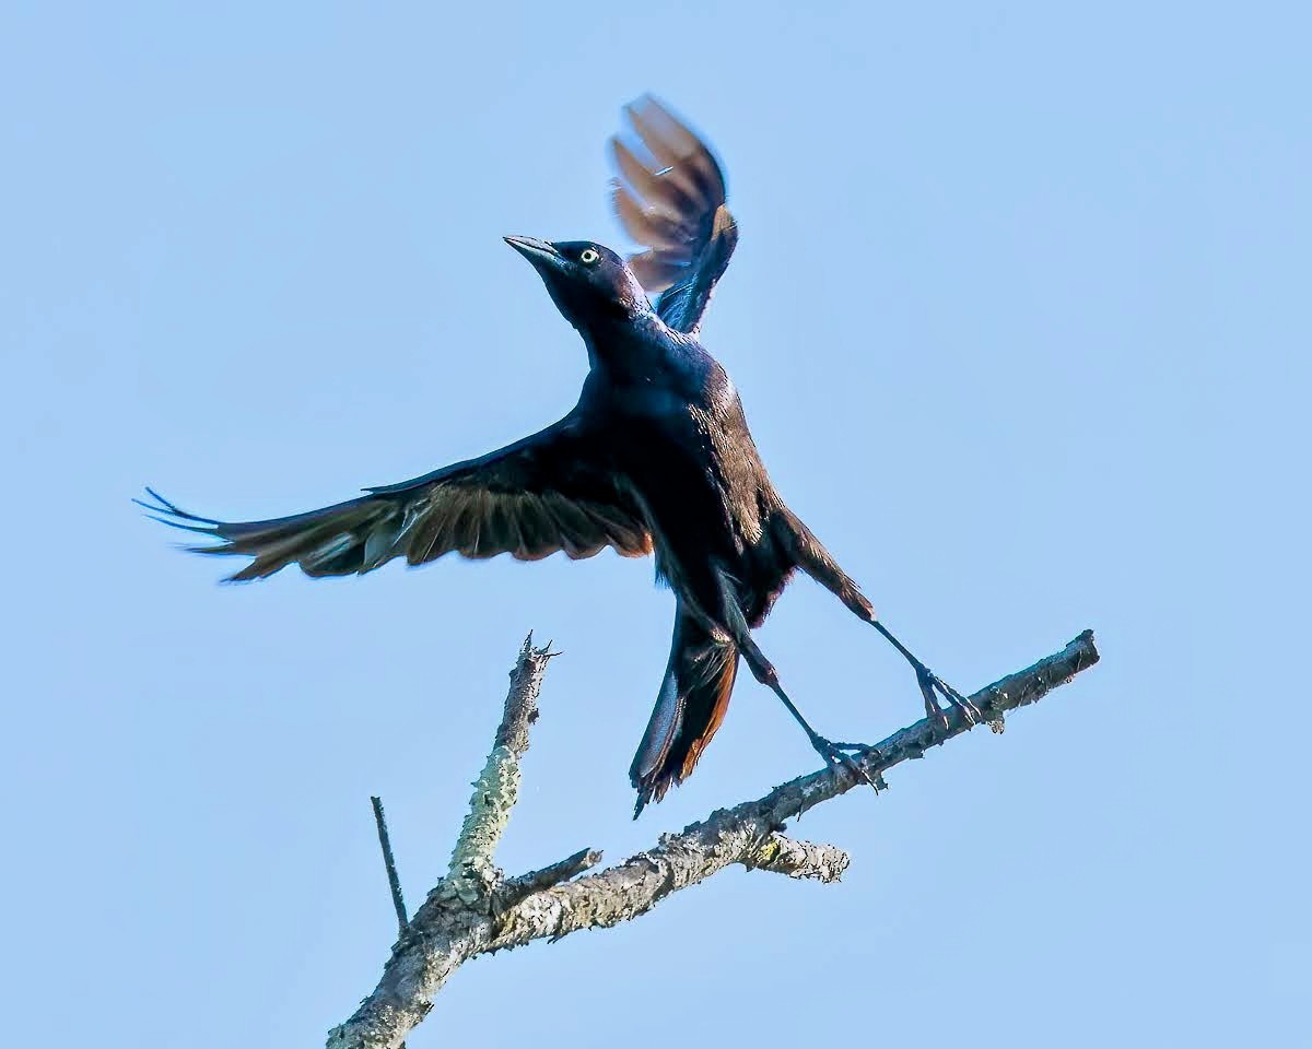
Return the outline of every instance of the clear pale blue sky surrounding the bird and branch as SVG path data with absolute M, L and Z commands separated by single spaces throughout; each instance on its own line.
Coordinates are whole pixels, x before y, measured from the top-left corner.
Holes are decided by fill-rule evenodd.
M 786 498 L 963 690 L 1103 663 L 806 817 L 841 885 L 479 960 L 411 1046 L 1305 1045 L 1305 12 L 7 5 L 5 1041 L 320 1044 L 394 934 L 369 795 L 417 903 L 530 627 L 512 871 L 815 767 L 744 675 L 630 822 L 649 563 L 223 587 L 129 502 L 291 513 L 559 417 L 583 347 L 500 237 L 626 247 L 604 143 L 653 90 L 726 163 L 703 337 Z M 807 581 L 758 640 L 824 732 L 920 713 Z

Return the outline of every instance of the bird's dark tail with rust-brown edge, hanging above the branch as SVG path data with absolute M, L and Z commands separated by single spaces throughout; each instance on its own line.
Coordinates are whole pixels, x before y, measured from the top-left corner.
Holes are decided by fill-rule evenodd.
M 737 645 L 680 610 L 656 708 L 628 770 L 638 789 L 635 820 L 648 801 L 660 801 L 672 784 L 693 774 L 724 720 L 737 663 Z

